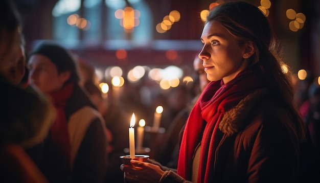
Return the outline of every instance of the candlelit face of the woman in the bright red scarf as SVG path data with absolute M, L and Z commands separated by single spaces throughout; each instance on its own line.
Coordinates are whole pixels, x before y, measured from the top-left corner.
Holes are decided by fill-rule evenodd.
M 202 31 L 203 48 L 199 58 L 203 60 L 204 71 L 210 81 L 223 79 L 227 83 L 247 67 L 245 47 L 218 21 L 208 22 Z

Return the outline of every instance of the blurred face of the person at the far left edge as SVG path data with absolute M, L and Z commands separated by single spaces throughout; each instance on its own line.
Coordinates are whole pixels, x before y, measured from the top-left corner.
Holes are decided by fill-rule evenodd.
M 7 36 L 10 36 L 8 33 Z M 0 43 L 0 74 L 9 82 L 18 85 L 25 75 L 26 57 L 21 45 L 18 31 L 14 34 L 13 42 L 4 40 Z

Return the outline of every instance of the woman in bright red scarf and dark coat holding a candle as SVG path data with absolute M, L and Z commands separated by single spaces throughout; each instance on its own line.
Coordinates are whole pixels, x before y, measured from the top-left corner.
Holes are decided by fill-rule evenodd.
M 131 160 L 130 182 L 298 182 L 305 126 L 269 22 L 245 2 L 215 7 L 199 57 L 212 81 L 193 107 L 177 172 Z

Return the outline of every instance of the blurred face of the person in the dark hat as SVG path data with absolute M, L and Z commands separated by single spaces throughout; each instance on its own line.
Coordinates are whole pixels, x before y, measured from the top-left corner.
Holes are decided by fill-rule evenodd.
M 38 87 L 45 94 L 60 90 L 68 79 L 65 73 L 58 73 L 57 66 L 48 57 L 40 54 L 32 55 L 28 66 L 30 85 Z

